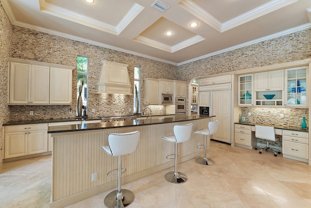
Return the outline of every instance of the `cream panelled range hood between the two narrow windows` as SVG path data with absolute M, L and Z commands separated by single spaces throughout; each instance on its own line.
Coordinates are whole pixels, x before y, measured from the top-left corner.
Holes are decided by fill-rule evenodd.
M 95 84 L 96 93 L 133 95 L 127 64 L 104 60 L 101 65 L 98 83 Z

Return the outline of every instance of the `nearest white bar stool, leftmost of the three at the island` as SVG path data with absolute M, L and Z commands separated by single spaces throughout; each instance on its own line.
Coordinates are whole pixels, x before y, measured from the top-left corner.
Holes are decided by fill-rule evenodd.
M 134 152 L 138 146 L 140 132 L 110 133 L 108 146 L 102 146 L 103 151 L 111 156 L 118 156 L 118 169 L 111 170 L 108 176 L 118 176 L 118 190 L 114 190 L 105 197 L 104 205 L 107 208 L 125 208 L 134 201 L 134 194 L 127 189 L 121 189 L 121 174 L 126 171 L 122 168 L 122 155 Z M 118 170 L 118 174 L 111 175 L 112 171 Z M 124 171 L 122 171 L 124 170 Z

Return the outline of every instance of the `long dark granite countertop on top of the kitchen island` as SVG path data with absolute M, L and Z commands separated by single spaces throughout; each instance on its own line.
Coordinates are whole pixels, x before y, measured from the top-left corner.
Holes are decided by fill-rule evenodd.
M 114 121 L 114 122 L 101 122 L 101 123 L 87 123 L 87 124 L 76 124 L 76 125 L 67 125 L 66 128 L 62 126 L 59 128 L 58 126 L 49 127 L 48 133 L 60 133 L 60 132 L 78 132 L 78 131 L 88 131 L 88 130 L 100 130 L 100 129 L 112 129 L 112 128 L 120 128 L 120 127 L 135 127 L 142 125 L 153 125 L 153 124 L 163 124 L 163 123 L 172 123 L 172 122 L 180 122 L 180 121 L 191 121 L 195 119 L 204 119 L 211 118 L 214 116 L 207 115 L 190 115 L 186 116 L 186 118 L 175 119 L 172 117 L 167 118 L 150 118 L 148 119 L 135 119 L 129 121 Z

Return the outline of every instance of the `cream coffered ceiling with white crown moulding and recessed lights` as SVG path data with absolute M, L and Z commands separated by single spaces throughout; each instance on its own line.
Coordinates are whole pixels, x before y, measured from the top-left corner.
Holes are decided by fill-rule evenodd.
M 311 28 L 311 0 L 1 3 L 15 25 L 175 65 Z

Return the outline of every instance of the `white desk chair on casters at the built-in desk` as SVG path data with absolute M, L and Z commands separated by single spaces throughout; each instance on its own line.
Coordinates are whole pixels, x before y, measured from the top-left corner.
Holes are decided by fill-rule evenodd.
M 262 150 L 273 151 L 274 156 L 277 156 L 276 151 L 279 154 L 281 153 L 280 150 L 278 150 L 276 148 L 269 147 L 269 141 L 276 141 L 276 133 L 274 132 L 274 127 L 255 125 L 255 136 L 256 136 L 256 138 L 267 140 L 267 146 L 266 147 L 256 147 L 255 148 L 255 150 L 257 150 L 257 148 L 261 148 L 261 150 L 259 151 L 260 154 L 261 154 Z

